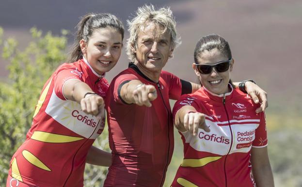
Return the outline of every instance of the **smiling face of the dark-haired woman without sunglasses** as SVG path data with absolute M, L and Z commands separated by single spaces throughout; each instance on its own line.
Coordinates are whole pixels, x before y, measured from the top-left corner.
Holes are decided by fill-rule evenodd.
M 80 41 L 83 56 L 99 75 L 110 71 L 120 58 L 122 34 L 115 28 L 95 29 L 88 42 Z

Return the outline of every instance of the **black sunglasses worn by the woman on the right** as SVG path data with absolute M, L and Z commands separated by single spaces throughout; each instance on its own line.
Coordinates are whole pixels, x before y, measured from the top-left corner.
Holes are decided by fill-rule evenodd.
M 195 64 L 197 70 L 199 73 L 201 74 L 209 74 L 212 72 L 213 68 L 216 69 L 217 72 L 224 72 L 227 71 L 230 68 L 230 63 L 233 60 L 233 58 L 227 60 L 227 61 L 223 61 L 223 62 L 218 62 L 216 64 L 213 65 L 209 65 L 209 64 Z

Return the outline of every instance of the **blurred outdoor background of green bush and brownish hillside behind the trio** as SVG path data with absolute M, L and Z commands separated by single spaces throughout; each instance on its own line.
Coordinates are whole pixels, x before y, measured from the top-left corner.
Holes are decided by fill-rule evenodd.
M 215 33 L 228 40 L 235 59 L 232 80 L 253 79 L 268 92 L 268 148 L 275 186 L 302 187 L 301 0 L 1 0 L 0 186 L 4 186 L 12 154 L 31 125 L 45 79 L 64 62 L 79 17 L 88 12 L 109 12 L 119 17 L 126 29 L 126 20 L 145 3 L 173 10 L 182 44 L 164 69 L 182 79 L 196 81 L 191 64 L 201 36 Z M 38 67 L 35 63 L 41 62 L 43 71 L 33 71 Z M 107 79 L 111 81 L 127 68 L 128 62 L 123 51 L 116 67 L 106 74 Z M 50 68 L 46 68 L 47 64 Z M 36 81 L 24 86 L 30 84 L 30 76 L 23 71 L 38 72 L 31 77 Z M 29 95 L 24 87 L 33 89 L 31 86 L 35 86 L 35 93 Z M 16 96 L 14 100 L 12 95 Z M 174 102 L 171 103 L 173 106 Z M 108 150 L 107 133 L 101 135 L 96 145 Z M 182 142 L 175 132 L 175 153 L 165 186 L 171 184 L 181 159 Z M 85 187 L 102 184 L 106 170 L 87 165 Z

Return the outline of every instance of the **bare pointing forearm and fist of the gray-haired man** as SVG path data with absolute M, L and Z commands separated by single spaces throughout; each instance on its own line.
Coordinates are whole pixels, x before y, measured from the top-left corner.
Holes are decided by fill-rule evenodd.
M 151 101 L 157 98 L 157 93 L 153 85 L 144 85 L 139 80 L 132 80 L 122 86 L 120 97 L 128 104 L 135 103 L 150 107 Z

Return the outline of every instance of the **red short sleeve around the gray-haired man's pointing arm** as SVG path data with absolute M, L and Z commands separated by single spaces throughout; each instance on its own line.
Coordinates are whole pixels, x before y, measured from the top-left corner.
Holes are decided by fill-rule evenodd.
M 113 98 L 115 102 L 122 103 L 122 104 L 127 104 L 120 95 L 120 91 L 123 85 L 126 83 L 132 81 L 132 80 L 138 80 L 138 77 L 133 74 L 121 74 L 116 79 L 113 80 L 111 84 L 114 84 L 113 87 Z

